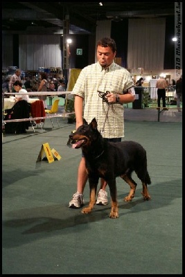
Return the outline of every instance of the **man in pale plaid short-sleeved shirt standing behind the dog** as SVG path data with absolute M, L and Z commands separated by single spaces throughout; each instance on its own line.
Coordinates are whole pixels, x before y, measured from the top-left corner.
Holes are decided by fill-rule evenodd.
M 88 123 L 96 118 L 98 129 L 108 141 L 121 141 L 124 137 L 123 103 L 134 101 L 134 82 L 130 73 L 114 62 L 116 43 L 114 39 L 100 39 L 96 48 L 95 64 L 86 66 L 80 72 L 73 87 L 75 95 L 76 129 L 82 125 L 82 117 Z M 132 88 L 132 89 L 131 89 Z M 107 101 L 100 97 L 106 94 Z M 125 93 L 125 94 L 124 94 Z M 70 208 L 80 208 L 84 204 L 83 190 L 87 182 L 85 158 L 82 157 L 78 167 L 77 192 L 69 202 Z M 96 204 L 107 204 L 107 183 L 101 179 Z

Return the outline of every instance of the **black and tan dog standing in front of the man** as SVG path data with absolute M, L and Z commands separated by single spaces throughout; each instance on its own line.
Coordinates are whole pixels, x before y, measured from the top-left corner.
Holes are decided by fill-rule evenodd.
M 101 136 L 97 129 L 96 118 L 88 125 L 78 127 L 76 132 L 71 132 L 69 142 L 74 148 L 82 148 L 85 157 L 86 168 L 89 178 L 90 202 L 89 206 L 82 209 L 82 213 L 91 213 L 96 203 L 96 190 L 100 177 L 108 183 L 112 199 L 112 210 L 109 214 L 111 218 L 118 217 L 118 202 L 116 193 L 116 177 L 121 177 L 130 185 L 130 193 L 124 201 L 130 202 L 134 197 L 136 183 L 132 179 L 132 172 L 143 185 L 143 199 L 150 200 L 147 185 L 151 184 L 147 170 L 146 150 L 135 141 L 121 141 L 112 143 Z

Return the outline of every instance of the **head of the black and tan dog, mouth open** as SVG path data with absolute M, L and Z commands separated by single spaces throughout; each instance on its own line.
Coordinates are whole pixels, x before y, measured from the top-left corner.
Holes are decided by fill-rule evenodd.
M 97 129 L 96 118 L 91 120 L 91 123 L 88 124 L 85 119 L 83 119 L 83 124 L 78 127 L 76 131 L 71 132 L 69 135 L 69 141 L 67 145 L 73 145 L 73 148 L 87 148 L 91 145 L 92 141 L 97 138 L 99 134 Z

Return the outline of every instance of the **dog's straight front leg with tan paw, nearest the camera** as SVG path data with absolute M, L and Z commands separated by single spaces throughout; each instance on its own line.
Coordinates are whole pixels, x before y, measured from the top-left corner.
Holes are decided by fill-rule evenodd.
M 118 201 L 117 201 L 117 190 L 116 190 L 116 179 L 108 181 L 110 196 L 111 196 L 111 212 L 110 218 L 118 218 Z

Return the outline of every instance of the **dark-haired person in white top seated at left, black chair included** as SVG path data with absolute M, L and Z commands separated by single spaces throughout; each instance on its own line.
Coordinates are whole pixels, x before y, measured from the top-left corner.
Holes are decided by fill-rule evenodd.
M 20 81 L 15 81 L 13 88 L 18 93 L 26 93 L 26 89 L 22 89 Z M 8 109 L 8 113 L 4 120 L 20 119 L 30 117 L 30 103 L 28 103 L 28 95 L 15 95 L 15 105 L 12 109 Z M 24 134 L 30 125 L 29 121 L 10 122 L 5 124 L 5 132 L 7 134 Z

